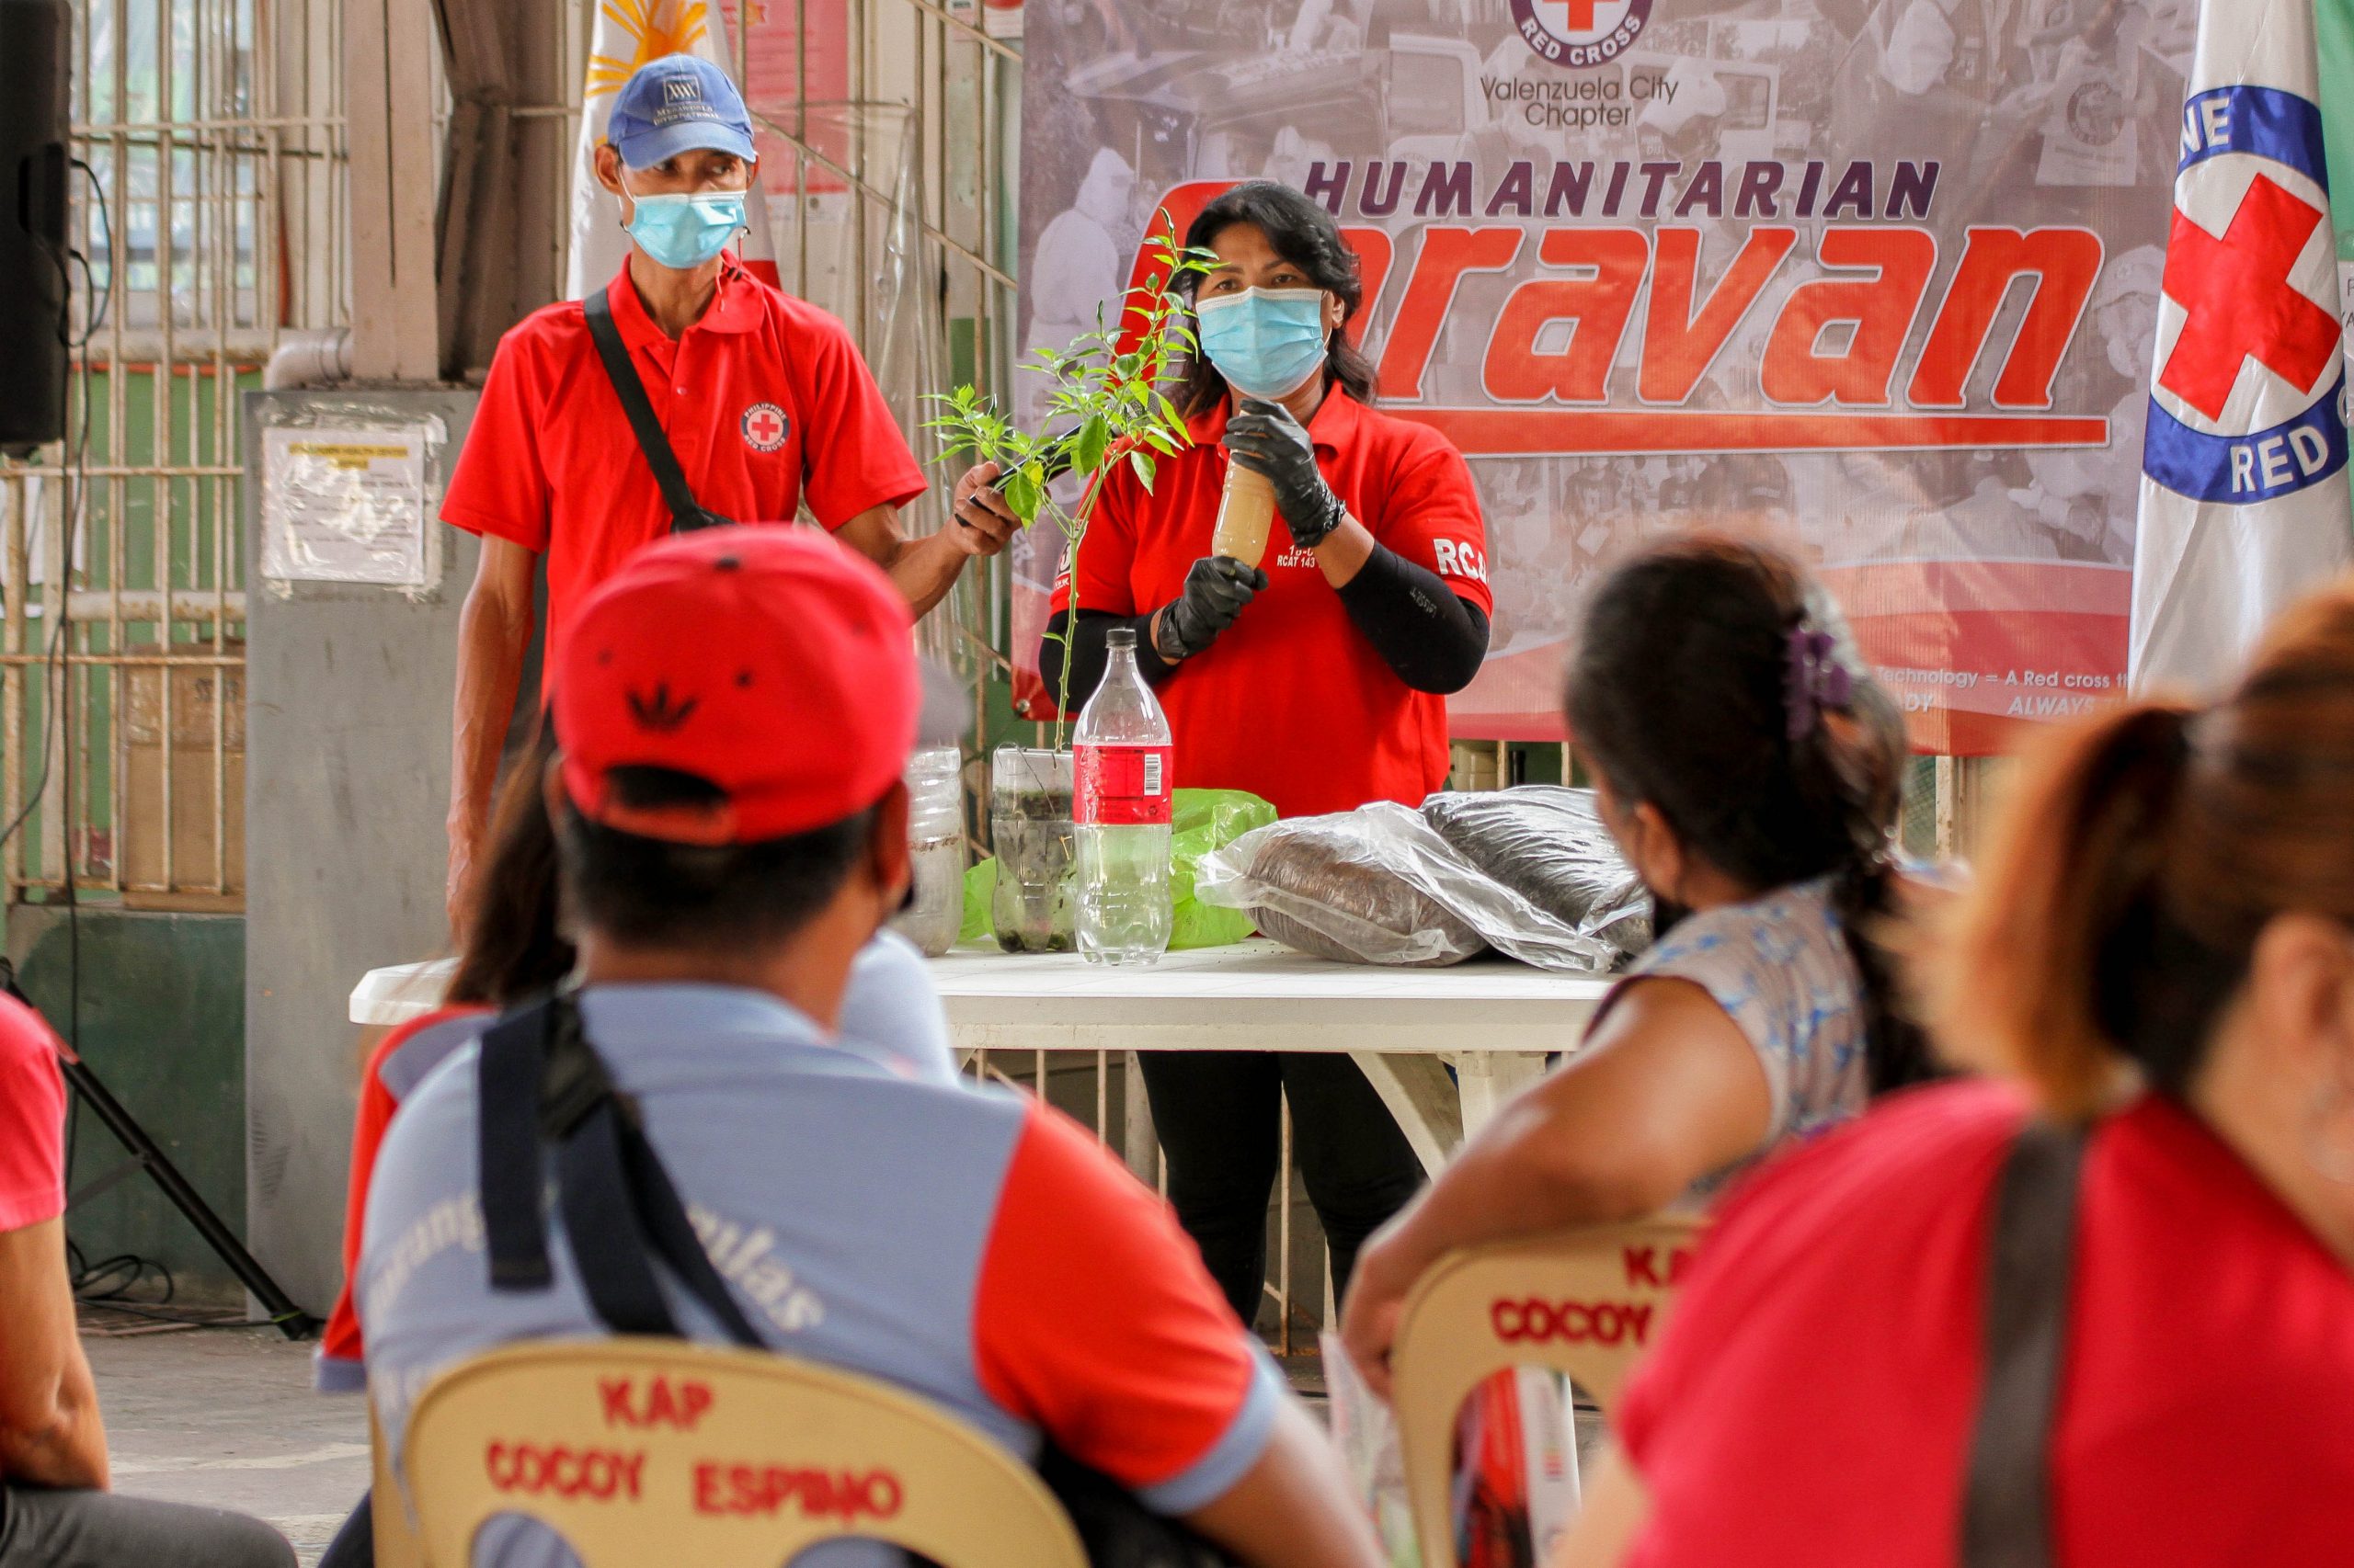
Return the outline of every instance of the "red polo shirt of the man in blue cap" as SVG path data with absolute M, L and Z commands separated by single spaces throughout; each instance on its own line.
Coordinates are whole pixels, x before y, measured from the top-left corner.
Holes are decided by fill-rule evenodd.
M 807 501 L 836 530 L 923 494 L 923 471 L 866 360 L 817 306 L 772 290 L 734 257 L 711 308 L 678 341 L 645 313 L 629 266 L 605 299 L 709 511 L 791 523 Z M 577 299 L 532 311 L 499 339 L 443 520 L 548 558 L 551 647 L 588 589 L 669 532 L 671 509 Z

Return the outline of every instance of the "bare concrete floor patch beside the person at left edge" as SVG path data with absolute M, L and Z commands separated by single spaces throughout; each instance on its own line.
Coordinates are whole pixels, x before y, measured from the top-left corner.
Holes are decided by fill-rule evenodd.
M 278 1526 L 301 1561 L 367 1490 L 367 1406 L 311 1391 L 311 1347 L 273 1328 L 115 1333 L 85 1314 L 115 1490 L 205 1502 Z

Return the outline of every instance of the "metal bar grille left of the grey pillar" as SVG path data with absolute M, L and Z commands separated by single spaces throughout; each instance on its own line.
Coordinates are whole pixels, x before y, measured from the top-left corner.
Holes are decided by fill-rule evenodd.
M 73 7 L 68 440 L 0 469 L 9 899 L 242 899 L 238 393 L 348 318 L 337 14 Z

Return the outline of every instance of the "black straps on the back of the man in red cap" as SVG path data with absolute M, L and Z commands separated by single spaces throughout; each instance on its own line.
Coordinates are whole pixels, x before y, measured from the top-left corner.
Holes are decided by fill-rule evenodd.
M 744 1347 L 765 1344 L 711 1264 L 687 1208 L 647 1142 L 636 1102 L 614 1088 L 581 1034 L 579 1005 L 556 994 L 483 1034 L 478 1154 L 492 1290 L 546 1290 L 546 1151 L 556 1208 L 588 1309 L 619 1335 L 680 1337 L 654 1276 L 671 1276 Z

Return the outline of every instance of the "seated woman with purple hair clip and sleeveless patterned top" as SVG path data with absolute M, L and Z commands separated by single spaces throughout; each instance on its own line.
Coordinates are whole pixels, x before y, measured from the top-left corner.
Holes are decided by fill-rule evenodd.
M 1895 918 L 1902 720 L 1787 556 L 1690 534 L 1610 572 L 1568 723 L 1660 942 L 1568 1064 L 1365 1248 L 1342 1335 L 1379 1389 L 1441 1253 L 1707 1198 L 1928 1076 L 1874 944 Z

